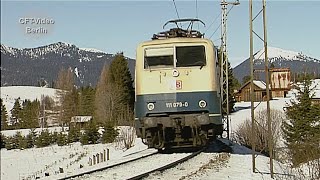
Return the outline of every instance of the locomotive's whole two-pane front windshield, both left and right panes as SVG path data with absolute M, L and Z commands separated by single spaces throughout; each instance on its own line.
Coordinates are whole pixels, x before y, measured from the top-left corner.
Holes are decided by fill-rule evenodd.
M 175 54 L 174 54 L 175 53 Z M 174 57 L 176 62 L 174 62 Z M 145 50 L 144 68 L 172 68 L 205 66 L 204 46 L 176 46 L 167 48 L 150 48 Z

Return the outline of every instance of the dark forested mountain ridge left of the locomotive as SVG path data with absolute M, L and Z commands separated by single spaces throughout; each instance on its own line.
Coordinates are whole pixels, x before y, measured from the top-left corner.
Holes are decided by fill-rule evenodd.
M 76 75 L 76 85 L 95 86 L 103 65 L 110 64 L 114 56 L 64 42 L 23 49 L 1 44 L 1 86 L 37 86 L 39 83 L 51 85 L 62 67 L 72 69 Z M 135 61 L 126 59 L 134 77 Z

